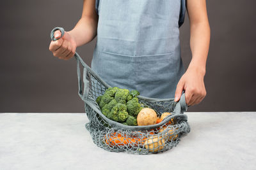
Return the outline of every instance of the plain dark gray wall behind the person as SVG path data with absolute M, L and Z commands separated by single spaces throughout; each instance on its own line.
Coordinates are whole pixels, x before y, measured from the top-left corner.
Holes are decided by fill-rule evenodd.
M 207 1 L 211 45 L 205 75 L 207 97 L 188 111 L 256 111 L 255 0 Z M 49 52 L 56 26 L 70 31 L 83 1 L 1 1 L 0 112 L 83 112 L 76 61 Z M 188 67 L 189 20 L 180 28 Z M 77 48 L 90 65 L 95 40 Z

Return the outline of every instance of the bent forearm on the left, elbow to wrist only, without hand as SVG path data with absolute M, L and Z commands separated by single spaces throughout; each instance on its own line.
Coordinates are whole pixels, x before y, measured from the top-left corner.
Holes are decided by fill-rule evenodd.
M 90 16 L 81 17 L 74 29 L 67 31 L 76 41 L 77 46 L 92 41 L 97 36 L 98 19 Z

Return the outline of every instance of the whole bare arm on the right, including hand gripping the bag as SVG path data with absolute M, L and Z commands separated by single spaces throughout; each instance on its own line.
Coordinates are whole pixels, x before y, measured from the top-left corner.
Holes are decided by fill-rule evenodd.
M 206 96 L 204 75 L 211 31 L 205 0 L 187 0 L 187 10 L 192 59 L 177 85 L 175 101 L 179 101 L 184 90 L 186 103 L 190 106 L 200 103 Z

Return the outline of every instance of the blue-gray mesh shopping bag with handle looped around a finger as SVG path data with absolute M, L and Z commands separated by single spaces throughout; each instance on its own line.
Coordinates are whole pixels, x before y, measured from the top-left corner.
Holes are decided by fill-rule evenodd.
M 54 31 L 58 29 L 61 31 L 61 36 L 64 34 L 64 29 L 61 27 L 52 29 L 53 41 L 56 40 Z M 138 96 L 139 103 L 154 109 L 158 117 L 164 112 L 172 113 L 158 124 L 129 126 L 105 117 L 100 111 L 96 99 L 98 96 L 102 96 L 110 86 L 86 65 L 78 53 L 75 53 L 74 57 L 77 60 L 78 94 L 84 101 L 85 113 L 89 119 L 85 127 L 90 132 L 93 143 L 100 148 L 110 152 L 136 154 L 164 152 L 176 146 L 182 134 L 190 131 L 188 117 L 184 115 L 184 111 L 188 108 L 184 94 L 180 97 L 179 102 L 174 102 L 174 99 Z M 83 76 L 81 76 L 81 70 Z

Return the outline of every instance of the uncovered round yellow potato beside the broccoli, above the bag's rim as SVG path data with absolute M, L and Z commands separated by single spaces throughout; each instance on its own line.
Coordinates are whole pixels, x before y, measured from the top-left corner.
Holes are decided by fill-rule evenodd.
M 138 125 L 154 125 L 156 124 L 157 114 L 156 111 L 150 108 L 143 108 L 137 117 Z

